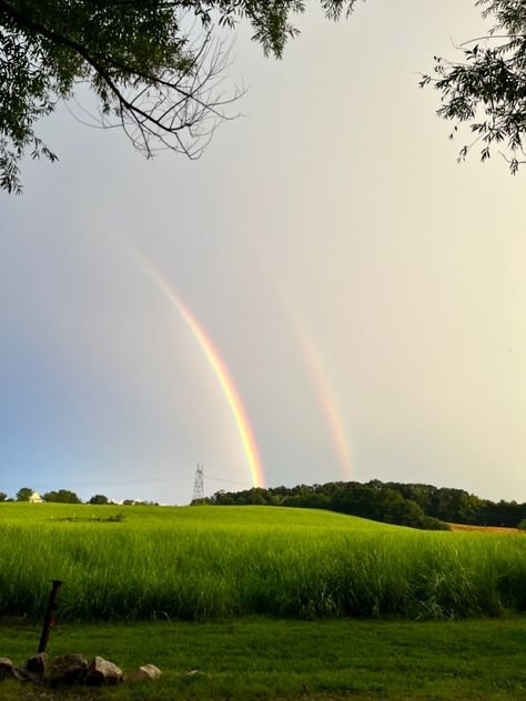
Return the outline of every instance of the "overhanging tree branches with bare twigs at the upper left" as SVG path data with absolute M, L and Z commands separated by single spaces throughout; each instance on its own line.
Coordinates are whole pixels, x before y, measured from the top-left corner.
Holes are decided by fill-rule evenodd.
M 320 0 L 338 19 L 356 0 Z M 247 20 L 265 54 L 297 34 L 302 0 L 0 0 L 0 186 L 21 192 L 19 163 L 57 155 L 34 123 L 82 83 L 97 123 L 121 128 L 148 158 L 199 158 L 239 90 L 221 85 L 229 51 L 219 29 Z M 223 32 L 224 34 L 224 32 Z M 93 116 L 93 115 L 90 115 Z

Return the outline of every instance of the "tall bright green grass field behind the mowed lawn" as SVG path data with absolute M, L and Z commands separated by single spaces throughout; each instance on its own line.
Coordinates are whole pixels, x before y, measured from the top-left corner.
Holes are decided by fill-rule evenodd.
M 85 520 L 119 510 L 122 522 Z M 67 582 L 62 619 L 449 619 L 526 608 L 524 536 L 270 507 L 2 505 L 0 524 L 0 614 L 40 616 L 50 579 Z

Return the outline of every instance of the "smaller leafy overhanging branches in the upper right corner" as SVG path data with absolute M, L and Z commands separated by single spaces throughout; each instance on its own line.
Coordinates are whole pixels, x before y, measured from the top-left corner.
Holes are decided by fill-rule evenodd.
M 459 161 L 475 146 L 485 161 L 496 145 L 515 174 L 526 159 L 526 2 L 476 4 L 494 21 L 487 35 L 462 44 L 462 62 L 435 57 L 435 72 L 424 75 L 421 85 L 433 84 L 442 93 L 437 113 L 455 123 L 452 139 L 461 123 L 469 124 L 473 139 L 461 149 Z

